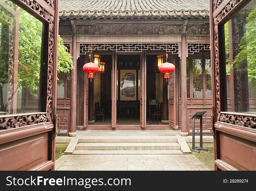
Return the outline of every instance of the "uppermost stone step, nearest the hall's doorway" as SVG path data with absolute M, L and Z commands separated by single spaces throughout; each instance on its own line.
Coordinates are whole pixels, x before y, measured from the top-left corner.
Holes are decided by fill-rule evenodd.
M 118 136 L 118 137 L 86 137 L 79 142 L 177 142 L 177 136 Z

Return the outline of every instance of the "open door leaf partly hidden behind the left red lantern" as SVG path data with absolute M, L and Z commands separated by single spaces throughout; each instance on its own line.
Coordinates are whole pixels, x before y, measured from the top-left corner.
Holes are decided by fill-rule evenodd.
M 85 55 L 85 63 L 90 62 L 89 53 Z M 89 90 L 89 81 L 88 81 L 88 73 L 84 74 L 84 101 L 83 101 L 83 113 L 84 113 L 84 129 L 88 127 L 88 90 Z

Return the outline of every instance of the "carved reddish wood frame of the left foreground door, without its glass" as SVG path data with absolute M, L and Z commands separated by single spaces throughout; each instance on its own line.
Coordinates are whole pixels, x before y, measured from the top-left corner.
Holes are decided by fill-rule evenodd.
M 1 149 L 0 153 L 1 156 L 5 156 L 0 161 L 0 169 L 54 170 L 56 126 L 53 121 L 57 93 L 57 64 L 55 63 L 57 63 L 56 52 L 58 49 L 59 13 L 56 11 L 58 10 L 58 0 L 12 1 L 45 23 L 42 44 L 44 44 L 43 59 L 46 75 L 42 78 L 44 89 L 41 98 L 44 112 L 0 116 L 0 147 L 5 148 Z M 13 39 L 13 44 L 17 44 L 17 38 L 15 41 Z M 14 57 L 17 60 L 17 52 L 12 56 L 12 60 Z M 14 63 L 10 62 L 10 64 Z M 9 77 L 11 80 L 15 80 L 13 76 Z M 28 141 L 29 145 L 34 146 L 28 147 L 26 144 Z M 39 147 L 40 149 L 38 149 Z M 21 152 L 24 153 L 21 154 Z M 22 160 L 19 160 L 20 157 Z

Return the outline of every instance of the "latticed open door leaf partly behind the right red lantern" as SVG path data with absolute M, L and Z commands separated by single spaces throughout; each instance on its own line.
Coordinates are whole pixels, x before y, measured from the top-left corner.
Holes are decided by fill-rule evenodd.
M 179 79 L 176 75 L 178 74 L 177 69 L 179 69 L 176 65 L 177 59 L 176 54 L 168 56 L 168 62 L 175 65 L 175 70 L 170 73 L 170 78 L 168 79 L 169 126 L 171 127 L 178 125 L 177 122 L 179 121 L 179 119 L 177 119 L 179 116 L 177 113 L 179 104 L 177 104 L 177 100 L 179 100 L 179 94 L 177 95 L 177 92 L 179 90 L 179 85 L 176 85 L 177 80 Z

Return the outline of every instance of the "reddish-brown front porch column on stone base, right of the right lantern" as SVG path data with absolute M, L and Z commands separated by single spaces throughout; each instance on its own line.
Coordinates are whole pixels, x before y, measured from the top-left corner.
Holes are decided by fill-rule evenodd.
M 188 111 L 187 111 L 187 71 L 186 71 L 186 35 L 181 37 L 181 56 L 180 56 L 180 73 L 181 73 L 181 132 L 182 136 L 188 133 Z

